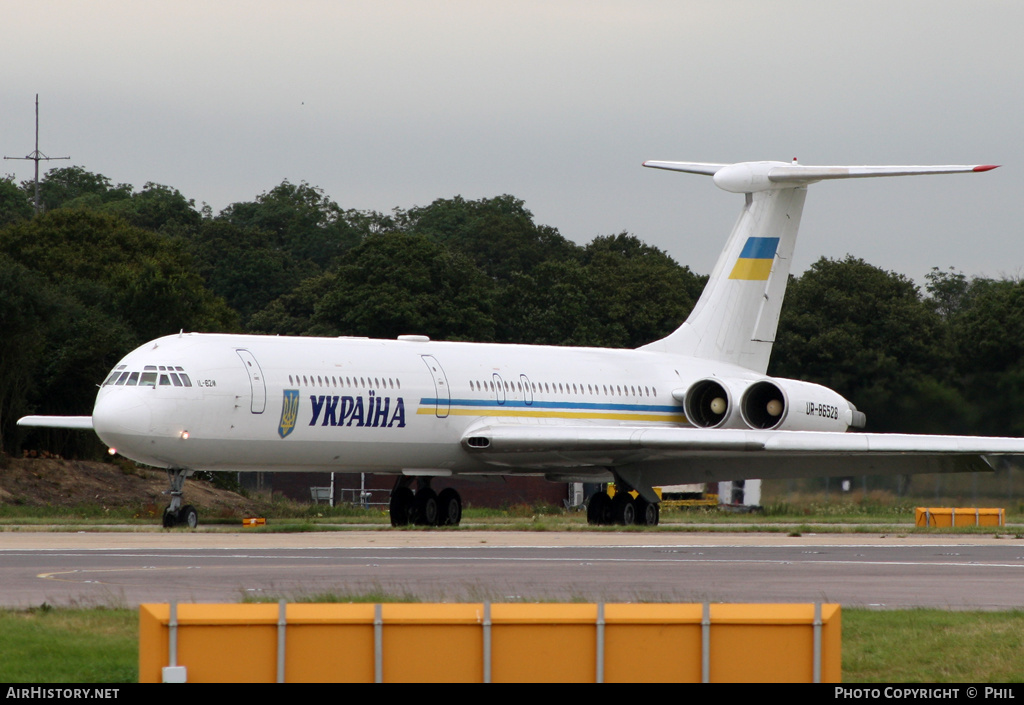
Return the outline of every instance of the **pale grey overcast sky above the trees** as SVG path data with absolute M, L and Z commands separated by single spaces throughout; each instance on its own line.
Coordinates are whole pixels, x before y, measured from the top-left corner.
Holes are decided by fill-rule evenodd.
M 711 271 L 742 196 L 644 160 L 1001 164 L 810 188 L 794 272 L 1024 276 L 1017 0 L 0 0 L 0 153 L 217 212 L 288 179 L 390 211 L 511 194 Z M 31 162 L 0 173 L 32 177 Z

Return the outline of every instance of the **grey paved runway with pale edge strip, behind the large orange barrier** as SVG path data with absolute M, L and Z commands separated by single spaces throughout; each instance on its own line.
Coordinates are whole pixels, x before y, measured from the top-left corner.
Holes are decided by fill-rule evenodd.
M 345 531 L 0 533 L 0 606 L 367 593 L 424 602 L 830 602 L 1024 607 L 1024 541 L 992 536 Z

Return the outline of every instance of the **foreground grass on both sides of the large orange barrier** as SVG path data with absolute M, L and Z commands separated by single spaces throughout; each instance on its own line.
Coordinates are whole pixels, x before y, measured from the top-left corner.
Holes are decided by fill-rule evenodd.
M 373 591 L 314 594 L 298 602 L 418 600 Z M 135 610 L 0 610 L 0 682 L 138 679 Z M 844 682 L 1024 682 L 1022 655 L 1024 611 L 843 610 Z

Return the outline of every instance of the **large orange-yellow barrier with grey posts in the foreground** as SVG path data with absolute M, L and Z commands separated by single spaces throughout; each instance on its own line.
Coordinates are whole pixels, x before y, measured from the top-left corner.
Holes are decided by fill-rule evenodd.
M 840 682 L 839 605 L 141 605 L 141 682 Z

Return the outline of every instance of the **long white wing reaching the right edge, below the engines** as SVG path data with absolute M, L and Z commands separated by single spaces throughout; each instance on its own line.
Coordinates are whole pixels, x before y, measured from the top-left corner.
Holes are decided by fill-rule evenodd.
M 1024 439 L 1009 438 L 510 423 L 479 425 L 462 444 L 519 471 L 586 479 L 614 467 L 654 485 L 970 472 L 991 470 L 989 456 L 1024 455 Z

